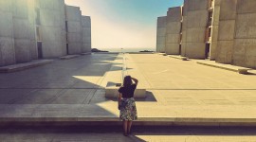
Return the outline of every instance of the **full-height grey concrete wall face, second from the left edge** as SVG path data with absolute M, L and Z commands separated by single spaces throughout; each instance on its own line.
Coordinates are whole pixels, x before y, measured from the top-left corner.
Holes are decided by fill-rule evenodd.
M 30 62 L 27 0 L 12 0 L 12 19 L 16 62 Z

